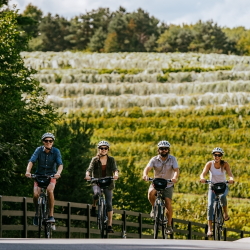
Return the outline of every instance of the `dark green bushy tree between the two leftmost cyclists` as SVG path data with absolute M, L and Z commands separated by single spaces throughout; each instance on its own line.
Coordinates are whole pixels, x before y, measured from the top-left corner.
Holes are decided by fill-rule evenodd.
M 58 200 L 90 203 L 89 183 L 84 180 L 90 163 L 92 126 L 79 118 L 57 126 L 56 146 L 60 149 L 64 169 L 58 180 L 55 197 Z

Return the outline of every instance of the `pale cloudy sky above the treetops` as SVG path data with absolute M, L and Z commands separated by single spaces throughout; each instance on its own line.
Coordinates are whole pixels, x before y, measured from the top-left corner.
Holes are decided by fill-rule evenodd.
M 119 6 L 127 12 L 142 8 L 150 16 L 167 24 L 191 24 L 198 20 L 213 20 L 222 27 L 244 26 L 250 29 L 249 0 L 10 0 L 9 5 L 17 4 L 22 12 L 32 3 L 43 11 L 59 14 L 65 18 L 86 13 L 99 7 L 115 11 Z

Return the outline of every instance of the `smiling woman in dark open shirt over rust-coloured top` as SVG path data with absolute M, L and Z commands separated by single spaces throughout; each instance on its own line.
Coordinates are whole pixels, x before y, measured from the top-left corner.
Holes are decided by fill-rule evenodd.
M 108 155 L 109 143 L 107 141 L 100 141 L 97 145 L 97 155 L 92 158 L 88 169 L 86 170 L 86 180 L 90 180 L 91 177 L 102 178 L 106 176 L 113 176 L 115 180 L 118 179 L 118 169 L 115 159 Z M 100 194 L 100 187 L 96 184 L 92 185 L 94 196 L 93 205 L 91 209 L 91 216 L 96 216 L 96 202 Z M 108 188 L 104 189 L 104 194 L 107 202 L 108 213 L 108 233 L 113 233 L 112 229 L 112 195 L 114 189 L 114 181 L 111 182 Z

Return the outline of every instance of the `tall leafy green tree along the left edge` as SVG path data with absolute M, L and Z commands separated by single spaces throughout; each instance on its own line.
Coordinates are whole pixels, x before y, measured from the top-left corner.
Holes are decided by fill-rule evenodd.
M 27 38 L 21 36 L 17 19 L 17 11 L 0 12 L 0 193 L 7 195 L 25 192 L 16 187 L 24 186 L 28 157 L 58 117 L 32 78 L 35 71 L 24 66 L 20 52 L 27 48 Z

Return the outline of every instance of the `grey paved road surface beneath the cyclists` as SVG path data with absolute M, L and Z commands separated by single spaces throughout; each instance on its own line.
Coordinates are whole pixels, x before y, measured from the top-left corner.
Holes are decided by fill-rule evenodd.
M 238 241 L 149 239 L 0 239 L 0 250 L 244 250 L 250 238 Z

